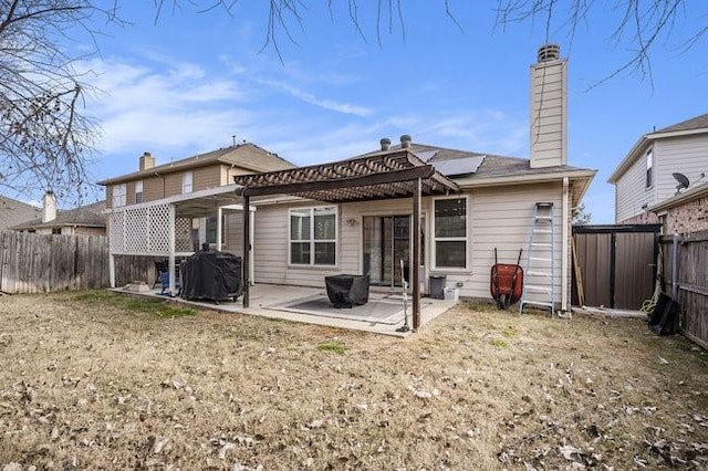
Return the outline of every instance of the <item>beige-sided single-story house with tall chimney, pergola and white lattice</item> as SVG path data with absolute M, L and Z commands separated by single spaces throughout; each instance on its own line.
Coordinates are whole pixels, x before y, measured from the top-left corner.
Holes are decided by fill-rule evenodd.
M 412 282 L 415 328 L 430 276 L 462 296 L 489 299 L 494 249 L 502 263 L 516 263 L 523 249 L 527 268 L 532 249 L 545 253 L 549 266 L 529 300 L 569 311 L 571 219 L 595 170 L 566 161 L 566 66 L 556 45 L 541 48 L 531 66 L 530 159 L 417 144 L 407 135 L 396 146 L 383 138 L 376 150 L 344 160 L 232 174 L 235 185 L 223 178 L 223 187 L 149 206 L 114 206 L 111 254 L 169 254 L 174 264 L 188 249 L 180 233 L 199 210 L 228 208 L 225 226 L 235 230 L 217 245 L 243 257 L 244 306 L 249 282 L 323 286 L 326 275 L 352 273 L 392 289 L 403 276 Z M 129 188 L 118 195 L 131 201 Z M 539 205 L 550 209 L 552 224 L 535 247 L 530 237 Z

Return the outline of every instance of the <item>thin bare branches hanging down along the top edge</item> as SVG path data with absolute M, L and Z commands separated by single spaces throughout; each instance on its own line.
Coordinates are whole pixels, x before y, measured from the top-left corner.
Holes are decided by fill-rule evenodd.
M 199 12 L 222 9 L 229 15 L 236 15 L 236 7 L 239 3 L 239 0 L 153 1 L 157 10 L 156 18 L 167 8 L 175 11 L 187 6 Z M 455 1 L 438 2 L 450 22 L 464 32 L 465 25 L 455 14 Z M 335 12 L 344 13 L 364 41 L 367 41 L 367 38 L 361 10 L 369 9 L 376 18 L 373 31 L 381 45 L 382 33 L 386 32 L 399 33 L 405 40 L 405 8 L 410 3 L 410 0 L 327 0 L 326 8 L 333 21 Z M 308 0 L 269 0 L 262 4 L 267 15 L 263 49 L 273 48 L 281 60 L 280 40 L 287 39 L 296 43 L 295 30 L 305 30 L 308 14 L 322 8 L 320 2 Z M 698 27 L 693 31 L 686 30 L 684 25 L 689 15 L 707 18 L 706 4 L 705 1 L 686 0 L 497 0 L 494 11 L 489 13 L 492 18 L 496 14 L 496 29 L 503 31 L 518 23 L 533 22 L 534 27 L 543 29 L 546 41 L 551 40 L 551 36 L 565 35 L 571 43 L 580 34 L 594 34 L 589 27 L 592 22 L 591 17 L 608 17 L 613 31 L 607 40 L 614 43 L 615 49 L 626 50 L 628 55 L 625 62 L 614 65 L 607 76 L 598 78 L 595 83 L 598 85 L 623 72 L 637 73 L 642 78 L 650 80 L 650 59 L 659 44 L 668 44 L 680 53 L 701 43 L 708 36 L 708 25 Z M 691 8 L 690 12 L 687 11 L 688 8 Z

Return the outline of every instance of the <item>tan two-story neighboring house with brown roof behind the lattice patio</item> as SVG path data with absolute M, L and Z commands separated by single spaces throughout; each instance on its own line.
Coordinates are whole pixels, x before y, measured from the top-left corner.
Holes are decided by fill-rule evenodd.
M 254 144 L 242 143 L 194 157 L 155 165 L 155 157 L 145 153 L 139 158 L 139 169 L 98 181 L 106 187 L 107 208 L 131 208 L 178 195 L 195 193 L 233 182 L 233 177 L 254 172 L 283 170 L 294 165 Z M 201 243 L 216 243 L 216 211 L 206 218 L 196 218 L 188 233 L 181 234 L 186 245 L 199 248 Z M 222 229 L 225 240 L 235 240 L 239 227 L 233 218 L 226 218 Z M 227 237 L 228 236 L 228 237 Z M 232 247 L 225 245 L 232 250 Z

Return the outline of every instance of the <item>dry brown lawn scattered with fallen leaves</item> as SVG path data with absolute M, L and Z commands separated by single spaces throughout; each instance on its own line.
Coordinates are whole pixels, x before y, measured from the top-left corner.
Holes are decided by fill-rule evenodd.
M 398 339 L 0 296 L 3 471 L 706 467 L 708 355 L 641 320 L 460 306 Z

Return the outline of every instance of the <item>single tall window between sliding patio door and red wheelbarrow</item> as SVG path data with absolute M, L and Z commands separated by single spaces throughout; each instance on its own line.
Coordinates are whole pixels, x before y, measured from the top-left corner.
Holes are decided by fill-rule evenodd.
M 467 199 L 435 200 L 435 266 L 467 266 Z

